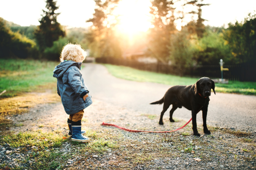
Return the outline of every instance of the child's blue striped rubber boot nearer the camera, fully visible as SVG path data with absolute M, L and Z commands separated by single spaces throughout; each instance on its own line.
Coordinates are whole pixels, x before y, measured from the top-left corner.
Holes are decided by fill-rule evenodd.
M 78 141 L 82 143 L 89 142 L 90 139 L 82 135 L 81 133 L 81 121 L 72 121 L 72 141 Z

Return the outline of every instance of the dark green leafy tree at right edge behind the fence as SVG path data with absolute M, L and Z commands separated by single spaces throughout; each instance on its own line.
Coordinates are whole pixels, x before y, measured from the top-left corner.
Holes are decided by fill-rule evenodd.
M 223 35 L 231 48 L 232 63 L 256 63 L 256 14 L 248 14 L 244 22 L 230 23 Z

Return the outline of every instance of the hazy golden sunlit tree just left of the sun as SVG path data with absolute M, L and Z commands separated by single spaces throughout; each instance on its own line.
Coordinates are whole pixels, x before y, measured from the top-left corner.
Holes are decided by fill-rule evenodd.
M 120 57 L 122 55 L 119 38 L 115 34 L 117 17 L 113 15 L 119 0 L 94 0 L 95 9 L 90 32 L 87 34 L 88 47 L 94 57 Z

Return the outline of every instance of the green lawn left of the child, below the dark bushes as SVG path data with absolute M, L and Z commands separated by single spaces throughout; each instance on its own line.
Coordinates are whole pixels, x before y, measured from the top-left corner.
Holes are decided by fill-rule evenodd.
M 58 62 L 0 59 L 0 63 L 0 92 L 6 90 L 0 98 L 17 96 L 56 82 L 52 71 Z

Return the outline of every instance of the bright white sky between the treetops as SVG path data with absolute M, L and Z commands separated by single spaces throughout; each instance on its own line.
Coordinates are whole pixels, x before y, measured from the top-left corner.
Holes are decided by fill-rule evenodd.
M 204 0 L 204 3 L 211 4 L 202 7 L 202 17 L 208 20 L 204 24 L 210 26 L 227 26 L 236 20 L 240 22 L 249 12 L 256 11 L 256 0 Z M 21 26 L 38 25 L 45 5 L 45 0 L 0 0 L 0 17 Z M 93 0 L 57 0 L 57 5 L 60 6 L 57 12 L 61 13 L 58 16 L 61 25 L 90 26 L 90 23 L 85 21 L 93 17 Z M 124 18 L 123 28 L 129 28 L 128 25 L 134 22 L 134 18 L 138 28 L 148 28 L 150 24 L 146 17 L 149 5 L 149 0 L 123 0 L 119 9 Z M 140 16 L 135 17 L 136 12 L 139 12 Z M 128 14 L 131 15 L 127 16 Z

